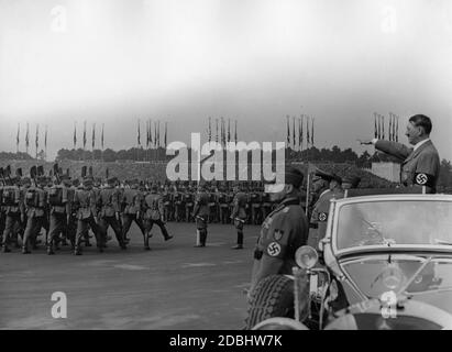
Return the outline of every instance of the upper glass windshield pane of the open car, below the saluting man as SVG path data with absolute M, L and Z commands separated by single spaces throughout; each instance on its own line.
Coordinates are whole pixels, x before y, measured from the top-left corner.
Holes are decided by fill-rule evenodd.
M 339 250 L 393 244 L 452 246 L 452 201 L 382 200 L 340 207 Z

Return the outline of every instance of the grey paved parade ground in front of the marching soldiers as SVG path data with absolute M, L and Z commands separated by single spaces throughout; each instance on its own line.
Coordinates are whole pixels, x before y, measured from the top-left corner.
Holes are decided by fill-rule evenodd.
M 194 223 L 167 227 L 174 239 L 154 229 L 151 251 L 133 224 L 126 251 L 113 237 L 101 254 L 91 246 L 75 256 L 64 246 L 49 256 L 42 245 L 30 255 L 0 253 L 0 328 L 241 329 L 260 227 L 245 227 L 239 251 L 232 226 L 209 224 L 203 249 L 194 248 Z M 55 292 L 66 294 L 66 319 L 52 317 Z

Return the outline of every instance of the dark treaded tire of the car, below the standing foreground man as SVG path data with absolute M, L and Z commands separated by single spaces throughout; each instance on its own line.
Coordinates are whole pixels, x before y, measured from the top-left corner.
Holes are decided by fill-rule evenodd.
M 309 295 L 308 282 L 301 279 L 299 287 L 299 308 L 306 310 Z M 245 330 L 268 318 L 294 318 L 294 279 L 285 275 L 271 275 L 263 278 L 251 293 Z

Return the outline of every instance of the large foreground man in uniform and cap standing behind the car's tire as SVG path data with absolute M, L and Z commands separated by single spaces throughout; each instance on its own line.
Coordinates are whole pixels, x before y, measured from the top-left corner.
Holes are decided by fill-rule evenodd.
M 306 244 L 308 220 L 299 200 L 304 175 L 294 167 L 286 167 L 285 184 L 273 185 L 271 198 L 279 205 L 262 224 L 261 235 L 254 251 L 251 293 L 257 283 L 273 274 L 291 274 L 296 265 L 295 252 Z

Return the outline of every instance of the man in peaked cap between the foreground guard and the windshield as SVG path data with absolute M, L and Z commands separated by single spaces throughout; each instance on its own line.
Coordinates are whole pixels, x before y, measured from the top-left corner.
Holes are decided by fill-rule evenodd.
M 318 249 L 320 240 L 327 233 L 328 215 L 330 211 L 330 200 L 333 198 L 343 198 L 342 179 L 338 175 L 318 172 L 321 178 L 329 183 L 329 189 L 324 190 L 317 200 L 309 222 L 308 244 Z

